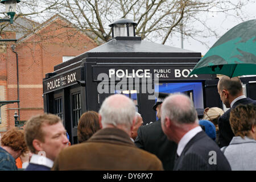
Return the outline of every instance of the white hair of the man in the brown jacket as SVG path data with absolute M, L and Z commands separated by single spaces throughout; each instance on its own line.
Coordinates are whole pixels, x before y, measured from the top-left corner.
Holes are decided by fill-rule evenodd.
M 127 128 L 133 125 L 135 117 L 134 102 L 122 94 L 114 94 L 104 100 L 99 113 L 102 116 L 102 126 L 125 125 Z

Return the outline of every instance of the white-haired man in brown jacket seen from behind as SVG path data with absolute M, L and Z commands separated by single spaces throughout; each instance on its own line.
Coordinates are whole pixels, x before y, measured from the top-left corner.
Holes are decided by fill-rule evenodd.
M 102 129 L 87 142 L 61 151 L 53 170 L 163 170 L 155 155 L 137 148 L 130 139 L 136 119 L 130 98 L 121 94 L 106 98 L 99 114 Z

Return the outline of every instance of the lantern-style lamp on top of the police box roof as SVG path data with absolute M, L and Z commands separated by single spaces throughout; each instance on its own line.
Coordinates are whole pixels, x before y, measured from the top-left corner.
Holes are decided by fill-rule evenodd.
M 117 36 L 135 36 L 135 26 L 138 23 L 131 19 L 121 18 L 109 24 L 112 30 L 112 38 Z

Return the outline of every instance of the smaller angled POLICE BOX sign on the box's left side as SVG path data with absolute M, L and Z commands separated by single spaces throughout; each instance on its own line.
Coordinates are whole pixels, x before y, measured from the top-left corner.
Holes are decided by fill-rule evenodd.
M 43 81 L 44 93 L 76 84 L 77 80 L 80 80 L 80 79 L 81 79 L 80 68 L 63 73 L 60 76 L 53 76 L 52 78 Z

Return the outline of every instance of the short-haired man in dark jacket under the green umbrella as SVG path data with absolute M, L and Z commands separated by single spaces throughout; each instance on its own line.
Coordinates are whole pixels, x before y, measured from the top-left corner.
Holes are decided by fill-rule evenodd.
M 243 95 L 242 83 L 240 78 L 233 77 L 229 78 L 228 76 L 222 76 L 218 81 L 218 94 L 220 94 L 221 101 L 227 108 L 234 108 L 240 104 L 254 104 L 256 101 L 246 98 Z M 226 111 L 218 119 L 218 129 L 219 129 L 219 139 L 218 145 L 220 147 L 228 146 L 234 133 L 231 129 L 229 123 L 230 109 Z

